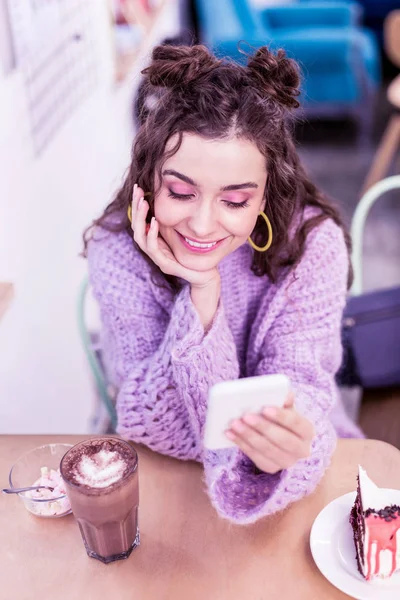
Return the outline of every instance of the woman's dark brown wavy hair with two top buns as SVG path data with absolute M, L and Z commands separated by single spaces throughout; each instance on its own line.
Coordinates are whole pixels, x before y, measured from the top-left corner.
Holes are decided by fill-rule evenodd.
M 163 164 L 179 149 L 184 133 L 208 139 L 235 135 L 256 144 L 265 156 L 265 212 L 274 241 L 268 252 L 254 252 L 252 270 L 256 275 L 267 275 L 275 282 L 282 270 L 294 268 L 304 253 L 308 233 L 327 218 L 342 228 L 350 251 L 350 236 L 338 210 L 310 181 L 297 155 L 292 112 L 299 107 L 299 67 L 283 50 L 273 53 L 261 47 L 248 56 L 245 66 L 218 59 L 205 46 L 161 45 L 154 48 L 152 61 L 142 74 L 149 101 L 141 110 L 132 162 L 114 200 L 85 231 L 85 251 L 93 226 L 126 231 L 133 237 L 127 210 L 135 183 L 148 193 L 150 222 L 158 192 L 156 169 L 161 182 Z M 177 142 L 166 152 L 174 135 Z M 305 220 L 301 217 L 307 206 L 315 211 Z M 266 234 L 260 217 L 252 238 L 264 245 Z M 164 277 L 177 287 L 173 278 Z M 349 261 L 349 285 L 351 278 Z

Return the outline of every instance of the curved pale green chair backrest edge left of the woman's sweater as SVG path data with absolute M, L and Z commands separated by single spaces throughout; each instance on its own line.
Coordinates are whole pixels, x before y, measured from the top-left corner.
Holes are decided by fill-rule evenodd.
M 78 295 L 78 305 L 77 305 L 77 317 L 78 317 L 78 327 L 79 333 L 81 336 L 83 349 L 86 354 L 86 358 L 89 363 L 90 370 L 92 372 L 96 388 L 101 400 L 104 403 L 105 408 L 107 409 L 108 415 L 111 421 L 111 427 L 115 431 L 117 426 L 117 413 L 114 407 L 114 404 L 111 400 L 111 397 L 107 390 L 107 381 L 103 372 L 103 369 L 99 363 L 99 360 L 96 356 L 96 352 L 92 346 L 92 340 L 88 328 L 86 326 L 85 319 L 85 304 L 86 304 L 86 296 L 89 289 L 89 281 L 86 277 L 81 284 L 79 295 Z

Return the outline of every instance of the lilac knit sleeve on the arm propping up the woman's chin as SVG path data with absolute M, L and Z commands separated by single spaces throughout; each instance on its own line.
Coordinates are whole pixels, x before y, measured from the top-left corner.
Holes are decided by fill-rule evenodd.
M 90 281 L 100 306 L 105 360 L 118 388 L 118 433 L 164 454 L 200 460 L 210 385 L 239 375 L 220 303 L 205 334 L 189 285 L 157 289 L 128 237 L 92 241 Z

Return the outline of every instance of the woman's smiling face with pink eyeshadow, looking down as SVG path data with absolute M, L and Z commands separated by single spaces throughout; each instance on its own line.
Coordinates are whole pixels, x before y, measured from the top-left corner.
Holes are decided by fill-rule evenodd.
M 247 140 L 183 135 L 154 202 L 160 234 L 181 265 L 208 271 L 246 242 L 264 207 L 265 163 Z

